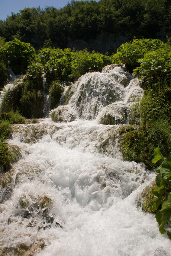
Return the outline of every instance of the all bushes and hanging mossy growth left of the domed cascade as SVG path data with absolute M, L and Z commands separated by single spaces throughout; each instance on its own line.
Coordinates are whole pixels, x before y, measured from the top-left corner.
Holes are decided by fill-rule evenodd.
M 3 89 L 7 83 L 9 68 L 14 73 L 26 75 L 15 81 L 13 90 L 6 92 L 3 98 L 2 110 L 20 110 L 26 118 L 41 118 L 44 115 L 45 93 L 51 94 L 51 108 L 59 104 L 64 88 L 59 82 L 75 81 L 86 72 L 99 71 L 112 63 L 109 56 L 101 53 L 71 51 L 66 48 L 42 48 L 38 54 L 29 43 L 14 39 L 6 42 L 0 48 L 0 85 Z M 43 84 L 46 78 L 46 85 Z M 52 84 L 53 83 L 53 84 Z

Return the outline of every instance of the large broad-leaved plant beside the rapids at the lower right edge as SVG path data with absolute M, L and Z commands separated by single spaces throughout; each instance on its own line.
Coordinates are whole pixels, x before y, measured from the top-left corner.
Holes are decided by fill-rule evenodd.
M 168 220 L 168 227 L 171 228 L 171 154 L 165 158 L 161 154 L 159 147 L 154 150 L 155 157 L 152 162 L 156 163 L 163 160 L 161 165 L 156 169 L 156 184 L 157 186 L 152 190 L 153 211 L 156 212 L 156 220 L 159 224 L 159 231 L 164 234 L 164 225 Z M 168 237 L 171 239 L 171 232 L 167 231 Z

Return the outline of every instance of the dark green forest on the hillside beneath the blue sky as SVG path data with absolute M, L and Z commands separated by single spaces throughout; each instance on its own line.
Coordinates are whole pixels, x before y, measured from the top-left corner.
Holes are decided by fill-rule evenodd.
M 90 41 L 100 34 L 130 39 L 165 37 L 171 32 L 170 10 L 170 0 L 72 0 L 59 10 L 46 6 L 12 13 L 0 20 L 0 35 L 7 41 L 30 42 L 36 48 L 47 45 L 49 39 L 51 45 L 66 48 L 70 39 Z

